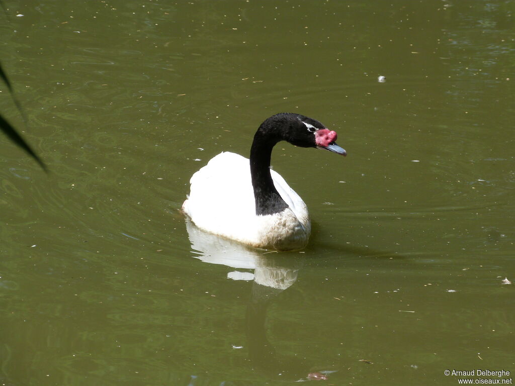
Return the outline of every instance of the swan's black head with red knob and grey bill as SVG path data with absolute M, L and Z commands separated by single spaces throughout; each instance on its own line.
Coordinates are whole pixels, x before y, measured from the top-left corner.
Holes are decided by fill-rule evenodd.
M 258 132 L 266 133 L 276 143 L 287 141 L 299 147 L 316 147 L 337 154 L 346 155 L 346 151 L 336 145 L 336 132 L 329 130 L 318 120 L 295 113 L 279 113 L 271 116 L 261 124 Z

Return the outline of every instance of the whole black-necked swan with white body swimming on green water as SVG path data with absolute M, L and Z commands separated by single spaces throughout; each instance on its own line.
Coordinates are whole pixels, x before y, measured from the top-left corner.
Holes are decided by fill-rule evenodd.
M 200 229 L 252 247 L 302 249 L 310 237 L 310 217 L 299 195 L 270 170 L 272 148 L 287 141 L 346 155 L 336 137 L 336 132 L 304 115 L 273 115 L 254 135 L 250 164 L 231 152 L 214 156 L 193 174 L 182 210 Z

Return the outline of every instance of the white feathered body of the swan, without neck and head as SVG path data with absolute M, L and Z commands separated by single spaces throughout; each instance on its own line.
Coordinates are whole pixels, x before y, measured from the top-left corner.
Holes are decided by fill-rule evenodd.
M 222 152 L 193 174 L 182 210 L 200 229 L 256 248 L 296 250 L 311 233 L 307 206 L 276 171 L 273 185 L 288 207 L 256 215 L 249 160 Z

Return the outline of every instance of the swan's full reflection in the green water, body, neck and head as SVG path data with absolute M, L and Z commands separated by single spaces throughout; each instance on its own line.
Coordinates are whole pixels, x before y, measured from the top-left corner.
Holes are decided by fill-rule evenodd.
M 231 279 L 253 280 L 245 323 L 252 366 L 269 377 L 283 380 L 327 379 L 322 372 L 309 371 L 310 365 L 297 357 L 278 358 L 266 337 L 268 305 L 274 297 L 296 282 L 297 274 L 304 264 L 304 259 L 299 257 L 302 255 L 266 254 L 241 243 L 203 232 L 189 220 L 186 220 L 186 230 L 192 249 L 197 254 L 195 258 L 235 268 L 236 270 L 227 274 Z M 244 271 L 251 269 L 254 273 Z

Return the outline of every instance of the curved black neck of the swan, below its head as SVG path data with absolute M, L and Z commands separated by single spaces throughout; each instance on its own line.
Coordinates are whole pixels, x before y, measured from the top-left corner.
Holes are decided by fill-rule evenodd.
M 272 148 L 283 138 L 270 129 L 260 126 L 250 148 L 250 176 L 254 188 L 256 215 L 272 215 L 288 207 L 273 186 L 270 175 Z

